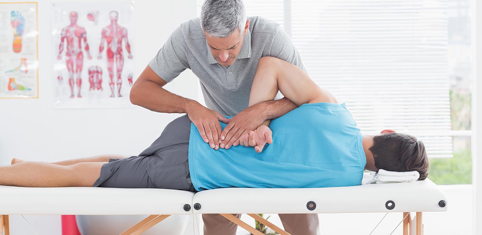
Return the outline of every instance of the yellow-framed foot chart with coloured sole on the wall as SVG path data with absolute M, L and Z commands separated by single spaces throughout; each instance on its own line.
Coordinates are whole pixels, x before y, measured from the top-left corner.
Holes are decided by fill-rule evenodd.
M 37 3 L 0 2 L 0 98 L 38 98 Z

